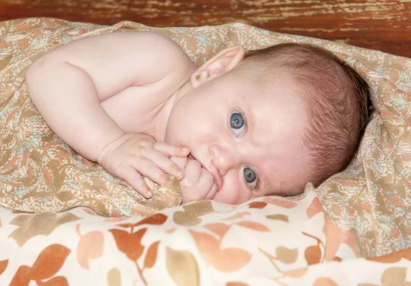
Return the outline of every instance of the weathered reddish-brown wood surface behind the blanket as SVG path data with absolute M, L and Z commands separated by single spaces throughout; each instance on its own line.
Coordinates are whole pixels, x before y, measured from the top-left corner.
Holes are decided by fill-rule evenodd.
M 411 57 L 411 0 L 0 0 L 0 21 L 29 16 L 157 27 L 238 21 Z

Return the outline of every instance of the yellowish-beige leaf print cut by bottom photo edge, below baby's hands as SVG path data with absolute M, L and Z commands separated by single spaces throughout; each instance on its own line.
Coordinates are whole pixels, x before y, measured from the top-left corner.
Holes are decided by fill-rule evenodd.
M 178 286 L 199 286 L 200 272 L 195 257 L 188 251 L 166 247 L 166 270 Z

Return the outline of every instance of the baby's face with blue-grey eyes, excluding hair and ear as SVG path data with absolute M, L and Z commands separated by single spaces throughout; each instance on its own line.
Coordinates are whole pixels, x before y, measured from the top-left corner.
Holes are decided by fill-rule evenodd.
M 288 75 L 270 86 L 230 73 L 190 91 L 171 112 L 164 141 L 188 147 L 214 175 L 216 201 L 292 195 L 307 182 L 306 110 Z

